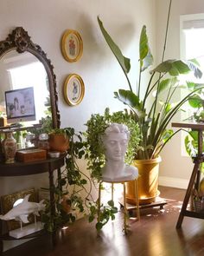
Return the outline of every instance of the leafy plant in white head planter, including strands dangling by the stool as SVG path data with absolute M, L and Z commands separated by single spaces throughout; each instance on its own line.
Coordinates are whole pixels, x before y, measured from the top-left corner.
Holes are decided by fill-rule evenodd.
M 125 157 L 125 162 L 130 164 L 135 148 L 140 140 L 139 129 L 137 122 L 134 121 L 134 117 L 128 113 L 127 110 L 118 111 L 110 113 L 109 108 L 105 108 L 103 115 L 94 114 L 86 122 L 86 132 L 85 132 L 85 148 L 86 154 L 85 158 L 87 160 L 87 168 L 90 170 L 91 178 L 96 186 L 99 188 L 99 181 L 101 181 L 101 171 L 102 167 L 105 166 L 105 148 L 102 141 L 102 136 L 105 133 L 105 129 L 112 123 L 123 123 L 125 124 L 130 132 L 130 141 L 127 148 L 127 154 Z M 114 202 L 109 200 L 107 205 L 98 204 L 98 200 L 90 202 L 90 213 L 89 221 L 97 219 L 96 229 L 99 231 L 108 220 L 115 218 L 115 213 L 118 212 L 117 207 L 114 207 Z M 125 228 L 124 228 L 125 230 Z

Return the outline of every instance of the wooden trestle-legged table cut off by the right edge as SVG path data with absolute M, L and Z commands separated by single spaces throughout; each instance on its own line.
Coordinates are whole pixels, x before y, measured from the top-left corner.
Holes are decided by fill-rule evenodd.
M 179 214 L 179 218 L 177 220 L 176 228 L 181 228 L 182 220 L 184 216 L 204 219 L 204 213 L 196 213 L 194 211 L 190 211 L 187 209 L 188 201 L 192 192 L 193 187 L 198 189 L 199 183 L 201 179 L 200 165 L 204 161 L 204 154 L 202 154 L 202 144 L 203 144 L 203 131 L 204 131 L 204 123 L 196 123 L 196 122 L 173 122 L 172 127 L 175 128 L 188 128 L 198 132 L 198 154 L 194 157 L 194 169 L 191 174 L 188 188 L 186 191 L 186 195 L 184 197 L 182 203 L 182 210 Z

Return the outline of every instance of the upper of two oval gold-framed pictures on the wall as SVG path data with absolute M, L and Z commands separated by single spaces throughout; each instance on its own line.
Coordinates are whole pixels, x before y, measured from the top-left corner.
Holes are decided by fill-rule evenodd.
M 61 52 L 67 62 L 77 62 L 82 56 L 83 42 L 76 30 L 66 30 L 61 38 Z

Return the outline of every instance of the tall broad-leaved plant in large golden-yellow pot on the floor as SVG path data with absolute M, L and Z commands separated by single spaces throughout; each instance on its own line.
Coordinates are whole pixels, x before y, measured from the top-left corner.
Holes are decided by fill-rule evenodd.
M 113 42 L 112 37 L 105 30 L 99 16 L 98 23 L 106 43 L 109 45 L 110 49 L 112 49 L 112 53 L 117 58 L 124 72 L 130 88 L 129 90 L 119 89 L 114 95 L 115 98 L 131 109 L 131 114 L 134 115 L 134 120 L 139 126 L 141 140 L 139 147 L 135 150 L 135 164 L 140 174 L 138 181 L 139 197 L 141 203 L 149 203 L 155 200 L 157 194 L 158 178 L 156 176 L 158 176 L 158 170 L 156 170 L 156 166 L 161 161 L 159 155 L 165 144 L 178 132 L 173 132 L 172 129 L 168 128 L 168 125 L 175 114 L 180 111 L 182 104 L 187 102 L 189 97 L 194 95 L 194 92 L 198 90 L 196 84 L 193 82 L 187 82 L 181 86 L 178 76 L 193 71 L 196 77 L 201 77 L 201 70 L 199 69 L 198 62 L 195 60 L 184 62 L 182 60 L 164 61 L 162 59 L 162 62 L 158 64 L 156 68 L 151 69 L 149 82 L 143 84 L 143 72 L 147 71 L 153 64 L 153 56 L 150 52 L 146 26 L 143 26 L 139 40 L 139 72 L 137 88 L 135 89 L 131 85 L 131 81 L 128 77 L 128 73 L 131 70 L 130 59 L 123 56 L 118 45 Z M 166 31 L 168 31 L 168 26 L 169 15 Z M 164 41 L 163 56 L 166 38 L 167 32 Z M 173 102 L 174 95 L 182 87 L 187 89 L 190 87 L 191 91 L 182 98 L 181 101 Z M 144 89 L 143 95 L 141 94 L 141 89 Z M 147 175 L 147 172 L 150 175 Z M 150 176 L 153 176 L 152 181 L 150 180 Z M 149 188 L 150 191 L 148 190 Z M 134 184 L 129 182 L 127 187 L 127 201 L 131 202 L 132 200 L 135 201 Z

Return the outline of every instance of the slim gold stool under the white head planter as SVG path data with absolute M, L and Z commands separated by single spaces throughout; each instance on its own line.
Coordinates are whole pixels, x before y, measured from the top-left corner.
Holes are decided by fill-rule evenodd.
M 132 181 L 132 180 L 131 180 Z M 138 198 L 138 185 L 137 185 L 137 179 L 133 180 L 135 181 L 135 194 L 136 194 L 136 207 L 137 207 L 137 220 L 140 220 L 140 214 L 139 214 L 139 198 Z M 114 183 L 121 183 L 124 186 L 124 233 L 127 233 L 127 207 L 126 207 L 126 187 L 125 182 L 128 181 L 100 181 L 99 182 L 99 212 L 98 212 L 98 220 L 99 220 L 99 214 L 100 214 L 100 202 L 101 202 L 101 185 L 102 183 L 111 183 L 112 184 L 112 200 L 113 200 L 113 186 Z

